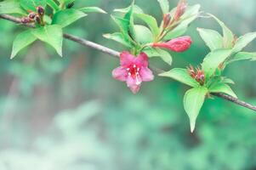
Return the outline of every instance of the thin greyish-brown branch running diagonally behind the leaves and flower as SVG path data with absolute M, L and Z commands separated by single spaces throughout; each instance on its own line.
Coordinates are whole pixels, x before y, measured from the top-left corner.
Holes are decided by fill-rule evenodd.
M 4 20 L 12 21 L 12 22 L 20 24 L 22 26 L 34 27 L 31 24 L 22 24 L 19 18 L 16 18 L 16 17 L 11 16 L 9 14 L 0 14 L 0 18 L 2 18 Z M 80 43 L 82 46 L 89 47 L 89 48 L 94 48 L 94 49 L 96 49 L 98 51 L 101 51 L 102 53 L 109 54 L 109 55 L 111 55 L 113 57 L 116 57 L 116 58 L 118 58 L 119 55 L 120 55 L 119 52 L 117 52 L 117 51 L 115 51 L 115 50 L 113 50 L 111 48 L 106 48 L 105 46 L 102 46 L 102 45 L 97 44 L 95 42 L 90 42 L 90 41 L 85 40 L 85 39 L 80 38 L 80 37 L 72 36 L 70 34 L 63 34 L 63 37 L 65 37 L 66 39 L 69 39 L 69 40 L 71 40 L 73 42 Z M 154 68 L 154 67 L 152 69 L 154 69 L 157 73 L 161 73 L 162 72 L 160 69 L 157 69 L 157 68 Z M 232 103 L 234 103 L 236 105 L 241 105 L 242 107 L 245 107 L 245 108 L 250 109 L 252 111 L 256 111 L 256 106 L 250 105 L 247 102 L 242 101 L 240 99 L 233 98 L 230 95 L 219 94 L 219 93 L 213 93 L 213 95 L 217 96 L 219 98 L 228 100 L 228 101 L 230 101 L 230 102 L 232 102 Z

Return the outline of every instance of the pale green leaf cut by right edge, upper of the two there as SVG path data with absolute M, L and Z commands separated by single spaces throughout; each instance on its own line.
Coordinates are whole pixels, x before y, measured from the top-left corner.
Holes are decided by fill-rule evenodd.
M 242 51 L 242 49 L 245 48 L 247 46 L 247 44 L 252 42 L 255 38 L 256 38 L 256 32 L 250 32 L 242 37 L 239 37 L 236 40 L 236 44 L 235 44 L 232 52 L 234 54 L 236 54 L 236 53 Z

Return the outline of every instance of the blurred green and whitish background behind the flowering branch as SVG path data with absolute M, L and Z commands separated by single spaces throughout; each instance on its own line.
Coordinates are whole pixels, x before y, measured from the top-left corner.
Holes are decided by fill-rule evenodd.
M 77 0 L 111 14 L 128 0 Z M 156 0 L 137 0 L 161 20 Z M 171 1 L 172 7 L 177 1 Z M 225 21 L 237 36 L 256 31 L 255 0 L 189 0 Z M 122 50 L 102 37 L 117 31 L 110 14 L 89 14 L 65 32 Z M 209 50 L 196 27 L 219 30 L 200 18 L 186 35 L 191 49 L 173 54 L 173 67 L 198 65 Z M 10 60 L 12 41 L 24 27 L 0 20 L 0 169 L 1 170 L 236 170 L 256 169 L 256 114 L 223 99 L 208 99 L 190 133 L 183 109 L 188 88 L 156 77 L 132 94 L 111 77 L 118 60 L 65 40 L 64 57 L 35 42 Z M 256 42 L 247 51 L 256 51 Z M 152 59 L 168 71 L 162 61 Z M 256 104 L 256 63 L 230 65 L 239 98 Z

